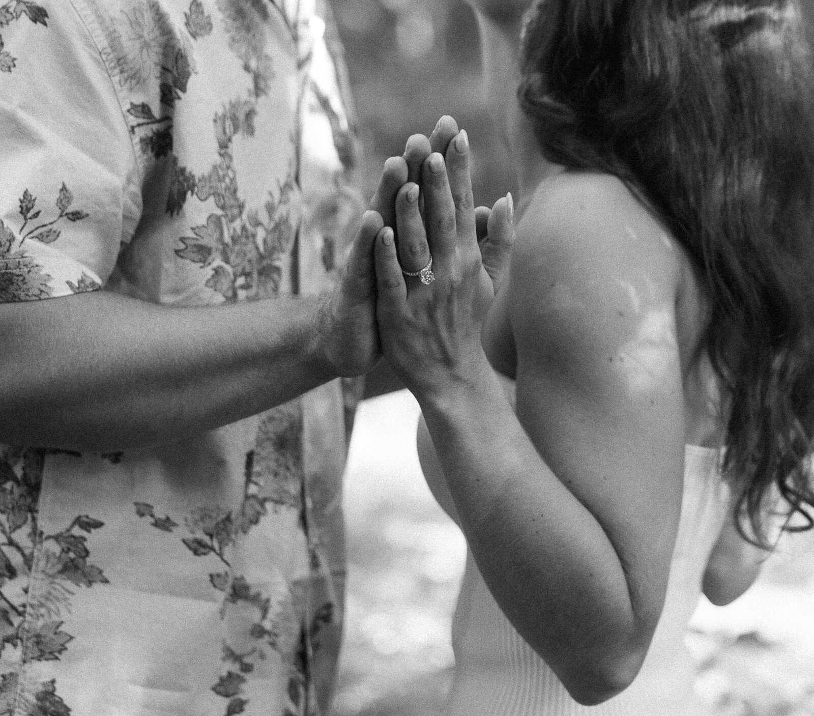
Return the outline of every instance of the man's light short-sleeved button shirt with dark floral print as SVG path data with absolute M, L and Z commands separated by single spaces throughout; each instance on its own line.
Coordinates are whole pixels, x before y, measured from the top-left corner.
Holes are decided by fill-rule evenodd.
M 0 301 L 330 285 L 360 202 L 326 15 L 0 0 Z M 0 446 L 0 716 L 325 714 L 358 388 L 152 449 Z

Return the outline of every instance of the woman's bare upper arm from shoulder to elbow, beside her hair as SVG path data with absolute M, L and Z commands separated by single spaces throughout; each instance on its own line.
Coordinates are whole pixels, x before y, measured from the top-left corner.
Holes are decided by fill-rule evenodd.
M 654 222 L 615 211 L 612 187 L 583 190 L 537 201 L 519 226 L 507 301 L 517 413 L 602 525 L 634 607 L 660 613 L 684 469 L 676 261 Z

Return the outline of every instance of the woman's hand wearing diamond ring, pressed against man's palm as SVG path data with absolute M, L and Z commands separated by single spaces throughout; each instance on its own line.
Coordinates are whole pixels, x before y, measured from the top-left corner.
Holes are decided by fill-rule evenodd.
M 484 268 L 478 238 L 480 234 L 484 257 L 499 280 L 514 236 L 508 200 L 499 200 L 491 213 L 480 210 L 476 220 L 466 132 L 449 143 L 446 162 L 438 152 L 427 157 L 421 180 L 423 219 L 419 187 L 408 182 L 395 202 L 399 251 L 389 227 L 375 243 L 383 352 L 419 401 L 471 384 L 490 370 L 480 330 L 495 285 Z M 431 256 L 435 279 L 425 285 L 417 276 L 404 275 L 399 253 L 404 263 L 423 261 L 422 266 L 409 265 L 412 273 Z

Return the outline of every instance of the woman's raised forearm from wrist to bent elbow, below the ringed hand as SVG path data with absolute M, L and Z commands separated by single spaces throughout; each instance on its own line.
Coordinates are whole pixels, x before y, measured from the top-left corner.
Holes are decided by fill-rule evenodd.
M 604 701 L 637 674 L 663 592 L 632 589 L 602 525 L 540 458 L 486 375 L 419 399 L 462 529 L 523 638 L 577 701 Z

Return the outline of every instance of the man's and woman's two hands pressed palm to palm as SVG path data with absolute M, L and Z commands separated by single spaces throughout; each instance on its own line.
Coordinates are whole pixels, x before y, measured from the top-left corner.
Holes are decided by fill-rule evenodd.
M 469 140 L 451 117 L 384 165 L 340 289 L 356 297 L 347 340 L 374 305 L 370 353 L 383 354 L 419 402 L 491 370 L 480 332 L 508 265 L 513 213 L 510 195 L 475 209 Z

